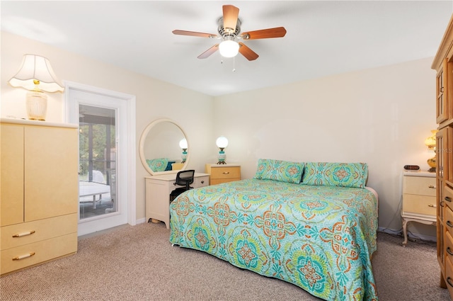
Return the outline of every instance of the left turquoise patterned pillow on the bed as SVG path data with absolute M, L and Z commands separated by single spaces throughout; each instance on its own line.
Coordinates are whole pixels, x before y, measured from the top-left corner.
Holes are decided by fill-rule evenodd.
M 254 178 L 299 184 L 302 181 L 304 163 L 273 159 L 258 159 Z

